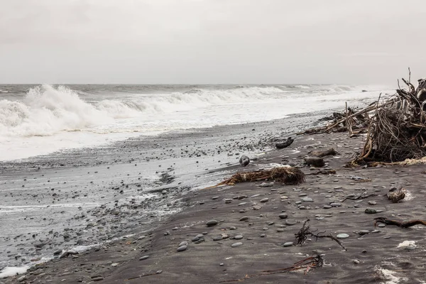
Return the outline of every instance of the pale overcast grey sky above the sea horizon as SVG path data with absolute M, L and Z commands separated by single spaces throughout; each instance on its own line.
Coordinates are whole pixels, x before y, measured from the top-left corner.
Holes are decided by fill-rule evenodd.
M 0 0 L 0 83 L 395 83 L 424 0 Z

